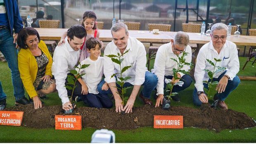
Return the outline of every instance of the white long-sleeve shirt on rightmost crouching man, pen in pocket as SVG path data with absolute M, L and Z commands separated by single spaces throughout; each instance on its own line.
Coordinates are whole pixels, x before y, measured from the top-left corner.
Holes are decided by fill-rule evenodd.
M 197 63 L 194 71 L 194 78 L 196 80 L 194 85 L 197 88 L 197 91 L 203 92 L 203 80 L 209 80 L 209 76 L 204 69 L 213 71 L 214 68 L 214 66 L 209 64 L 206 59 L 211 60 L 214 64 L 216 62 L 214 58 L 221 59 L 220 62 L 216 63 L 216 66 L 226 67 L 227 72 L 225 75 L 228 75 L 230 80 L 233 80 L 233 78 L 235 78 L 236 74 L 239 72 L 239 59 L 237 53 L 237 46 L 235 43 L 228 40 L 226 40 L 225 44 L 220 50 L 220 54 L 218 54 L 218 52 L 214 49 L 212 41 L 203 45 L 197 55 Z M 224 72 L 225 70 L 215 73 L 213 78 L 218 78 Z

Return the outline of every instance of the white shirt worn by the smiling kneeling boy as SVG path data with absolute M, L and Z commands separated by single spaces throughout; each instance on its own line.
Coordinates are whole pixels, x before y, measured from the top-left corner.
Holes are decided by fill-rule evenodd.
M 83 68 L 79 71 L 79 73 L 85 73 L 82 76 L 82 80 L 88 87 L 88 92 L 92 94 L 98 94 L 97 86 L 100 83 L 103 76 L 103 57 L 98 57 L 96 61 L 93 61 L 88 57 L 87 59 L 81 61 L 81 65 L 90 64 L 87 68 Z M 76 68 L 78 72 L 78 68 Z

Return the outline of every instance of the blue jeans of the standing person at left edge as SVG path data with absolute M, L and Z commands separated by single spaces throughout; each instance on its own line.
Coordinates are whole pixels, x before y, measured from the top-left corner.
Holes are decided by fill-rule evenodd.
M 15 48 L 13 37 L 8 29 L 0 30 L 0 51 L 4 54 L 11 69 L 14 97 L 18 101 L 24 97 L 24 88 L 19 75 L 18 50 Z M 3 92 L 2 83 L 0 82 L 0 100 L 2 99 L 6 99 L 6 94 Z

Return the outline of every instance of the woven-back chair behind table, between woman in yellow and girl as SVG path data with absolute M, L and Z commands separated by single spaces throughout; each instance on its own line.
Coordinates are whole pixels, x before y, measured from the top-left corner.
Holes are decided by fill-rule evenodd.
M 59 20 L 39 20 L 40 28 L 59 28 Z M 52 53 L 57 46 L 57 42 L 54 40 L 44 40 L 47 47 L 50 47 L 50 52 Z

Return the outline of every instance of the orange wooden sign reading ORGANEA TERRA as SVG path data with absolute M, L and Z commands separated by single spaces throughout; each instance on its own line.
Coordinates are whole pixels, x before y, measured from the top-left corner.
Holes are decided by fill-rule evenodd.
M 82 130 L 82 116 L 55 116 L 55 130 Z

